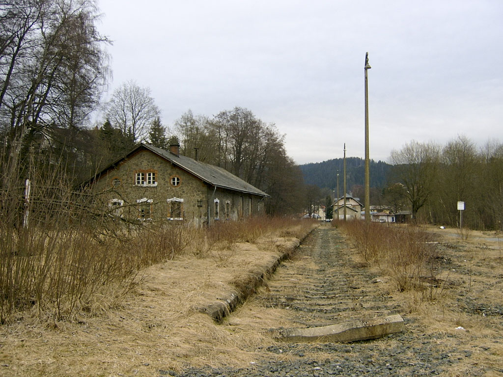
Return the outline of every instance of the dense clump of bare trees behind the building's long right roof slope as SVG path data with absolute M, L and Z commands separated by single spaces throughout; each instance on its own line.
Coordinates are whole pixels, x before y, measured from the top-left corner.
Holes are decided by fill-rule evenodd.
M 292 214 L 305 205 L 302 172 L 287 156 L 284 135 L 242 108 L 222 111 L 211 119 L 189 110 L 175 122 L 181 153 L 199 158 L 239 175 L 271 195 L 269 214 Z

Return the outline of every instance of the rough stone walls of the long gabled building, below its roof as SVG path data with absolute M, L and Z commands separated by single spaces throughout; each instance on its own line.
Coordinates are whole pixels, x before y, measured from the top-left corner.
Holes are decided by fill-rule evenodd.
M 137 184 L 137 173 L 144 174 L 143 185 Z M 155 183 L 147 181 L 147 174 L 150 178 L 155 174 Z M 201 225 L 257 216 L 265 208 L 262 197 L 215 189 L 143 149 L 102 174 L 94 186 L 104 192 L 110 211 L 131 218 L 185 220 Z

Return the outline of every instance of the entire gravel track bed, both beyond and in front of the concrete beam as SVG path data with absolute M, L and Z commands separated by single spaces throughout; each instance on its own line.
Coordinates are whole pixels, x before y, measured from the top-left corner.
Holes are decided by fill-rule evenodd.
M 325 224 L 302 242 L 290 260 L 280 264 L 266 284 L 248 299 L 246 305 L 253 308 L 250 312 L 281 309 L 283 323 L 297 328 L 364 321 L 404 311 L 381 288 L 378 277 L 354 260 L 339 231 Z M 229 321 L 239 315 L 246 320 L 247 311 L 231 314 Z M 471 360 L 472 353 L 479 351 L 463 344 L 463 334 L 428 331 L 413 316 L 404 317 L 403 333 L 353 343 L 324 339 L 315 343 L 271 342 L 250 349 L 260 356 L 248 368 L 193 368 L 178 377 L 489 375 L 485 366 Z M 498 366 L 494 370 L 503 372 Z

